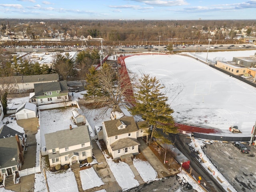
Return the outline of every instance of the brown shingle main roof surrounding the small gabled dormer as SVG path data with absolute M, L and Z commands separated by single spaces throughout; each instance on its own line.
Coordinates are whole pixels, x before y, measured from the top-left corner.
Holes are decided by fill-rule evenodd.
M 126 128 L 118 130 L 118 126 L 121 122 L 126 124 Z M 108 134 L 108 137 L 135 132 L 138 130 L 138 127 L 136 125 L 136 122 L 133 118 L 133 116 L 123 116 L 120 119 L 110 120 L 110 121 L 104 121 L 106 132 Z

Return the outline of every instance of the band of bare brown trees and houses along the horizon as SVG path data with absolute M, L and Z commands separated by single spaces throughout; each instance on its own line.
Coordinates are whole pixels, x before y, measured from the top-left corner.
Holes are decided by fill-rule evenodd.
M 44 22 L 44 24 L 40 24 Z M 47 37 L 45 30 L 57 30 L 71 37 L 88 35 L 106 41 L 198 40 L 233 38 L 242 29 L 255 33 L 255 20 L 68 20 L 68 19 L 0 19 L 1 34 L 26 32 Z M 6 26 L 6 29 L 3 29 Z M 214 35 L 211 35 L 214 32 Z M 161 36 L 161 37 L 159 37 Z

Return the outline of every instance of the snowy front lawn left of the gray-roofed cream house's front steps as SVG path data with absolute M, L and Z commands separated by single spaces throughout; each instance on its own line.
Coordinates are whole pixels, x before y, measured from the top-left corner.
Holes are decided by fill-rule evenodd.
M 71 169 L 64 172 L 46 171 L 50 192 L 78 192 L 76 179 Z M 35 191 L 47 192 L 44 173 L 35 174 Z

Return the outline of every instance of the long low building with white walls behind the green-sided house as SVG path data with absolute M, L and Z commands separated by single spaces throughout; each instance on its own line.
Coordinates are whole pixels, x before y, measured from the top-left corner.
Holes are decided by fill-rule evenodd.
M 0 86 L 9 86 L 11 93 L 33 92 L 34 84 L 59 81 L 58 74 L 0 77 Z

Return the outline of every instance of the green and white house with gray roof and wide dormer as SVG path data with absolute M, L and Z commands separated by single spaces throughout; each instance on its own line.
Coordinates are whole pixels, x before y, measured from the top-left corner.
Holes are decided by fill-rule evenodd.
M 37 105 L 68 102 L 68 85 L 66 81 L 34 84 L 34 95 L 30 102 Z

